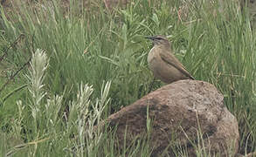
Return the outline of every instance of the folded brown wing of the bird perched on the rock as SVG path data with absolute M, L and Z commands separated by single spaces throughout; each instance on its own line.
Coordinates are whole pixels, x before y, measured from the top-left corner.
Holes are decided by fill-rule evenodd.
M 160 52 L 159 54 L 165 63 L 174 66 L 177 70 L 182 72 L 185 76 L 191 79 L 195 79 L 190 75 L 189 72 L 186 71 L 185 67 L 174 56 L 171 57 L 171 55 L 166 52 Z

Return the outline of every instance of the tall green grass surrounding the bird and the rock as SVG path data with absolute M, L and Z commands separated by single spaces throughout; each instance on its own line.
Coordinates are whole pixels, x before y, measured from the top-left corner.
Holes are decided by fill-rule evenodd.
M 69 13 L 58 1 L 45 1 L 44 7 L 21 4 L 8 14 L 9 21 L 2 11 L 0 50 L 6 56 L 0 85 L 24 68 L 0 92 L 1 156 L 124 156 L 114 146 L 113 133 L 95 133 L 92 125 L 149 92 L 151 44 L 144 36 L 156 34 L 170 36 L 188 71 L 224 94 L 225 106 L 239 121 L 240 153 L 255 151 L 256 42 L 246 10 L 228 3 L 224 14 L 217 11 L 218 3 L 140 0 L 107 11 L 101 1 L 93 2 L 89 8 L 71 3 Z M 32 89 L 36 74 L 24 64 L 37 49 L 45 50 L 49 65 L 41 73 L 39 84 L 44 86 Z M 153 88 L 161 85 L 157 81 Z M 91 138 L 88 133 L 95 134 Z M 131 156 L 151 152 L 143 141 L 130 150 Z

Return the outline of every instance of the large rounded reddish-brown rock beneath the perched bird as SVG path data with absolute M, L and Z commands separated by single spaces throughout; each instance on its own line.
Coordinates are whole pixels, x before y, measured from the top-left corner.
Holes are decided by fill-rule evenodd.
M 147 134 L 148 106 L 152 156 L 162 154 L 168 145 L 177 142 L 178 146 L 187 147 L 188 156 L 196 156 L 193 146 L 200 144 L 203 147 L 203 143 L 204 150 L 210 151 L 211 155 L 237 153 L 239 130 L 236 118 L 224 106 L 223 95 L 213 85 L 197 80 L 165 85 L 110 115 L 107 120 L 110 126 L 117 126 L 120 147 L 123 147 L 125 133 L 127 146 L 137 136 Z M 168 154 L 175 156 L 171 148 Z

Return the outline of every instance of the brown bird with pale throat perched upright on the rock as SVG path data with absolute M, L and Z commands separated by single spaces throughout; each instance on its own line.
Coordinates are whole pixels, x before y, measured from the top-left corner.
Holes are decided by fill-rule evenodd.
M 195 79 L 171 52 L 170 42 L 167 38 L 161 35 L 146 38 L 152 40 L 154 44 L 149 51 L 148 64 L 156 78 L 166 84 L 181 79 Z

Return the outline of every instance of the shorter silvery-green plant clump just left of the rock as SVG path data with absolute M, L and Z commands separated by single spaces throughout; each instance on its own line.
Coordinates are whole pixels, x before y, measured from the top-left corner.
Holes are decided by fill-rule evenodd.
M 73 130 L 77 130 L 78 138 L 71 151 L 76 150 L 73 153 L 78 156 L 90 156 L 93 154 L 93 148 L 100 143 L 102 130 L 100 126 L 95 125 L 100 124 L 103 110 L 110 101 L 107 97 L 110 85 L 110 81 L 103 84 L 100 99 L 91 102 L 93 86 L 81 84 L 77 100 L 70 103 L 67 132 L 73 133 Z

